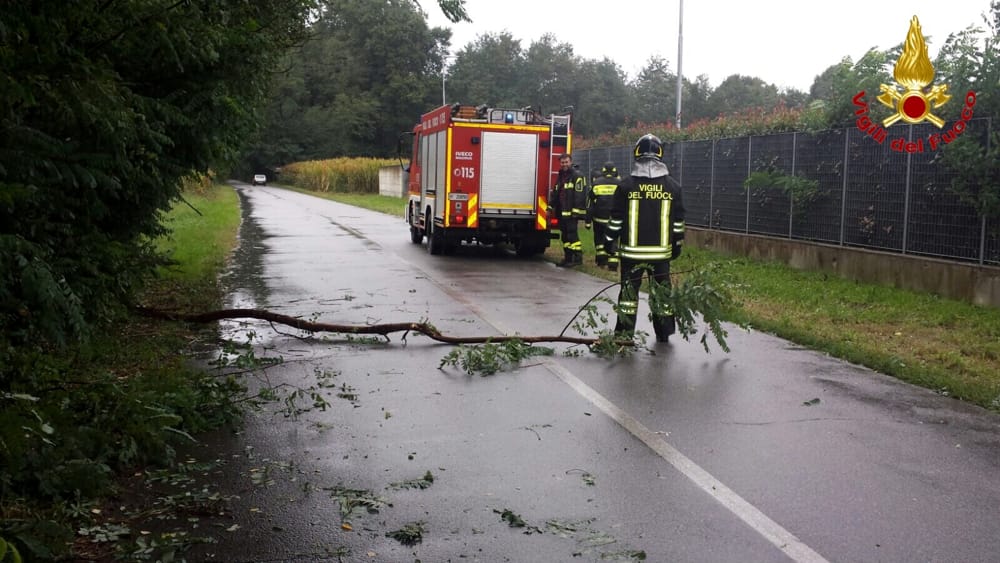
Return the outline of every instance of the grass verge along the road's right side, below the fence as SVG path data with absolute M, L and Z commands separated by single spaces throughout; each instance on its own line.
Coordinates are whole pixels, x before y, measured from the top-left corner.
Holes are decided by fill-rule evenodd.
M 392 215 L 403 208 L 395 197 L 320 196 Z M 402 226 L 400 236 L 407 236 Z M 582 224 L 580 239 L 585 264 L 577 269 L 618 281 L 594 265 L 593 231 Z M 558 241 L 545 258 L 562 259 Z M 1000 309 L 693 247 L 674 263 L 674 272 L 679 278 L 709 263 L 737 283 L 734 296 L 742 307 L 731 320 L 1000 411 Z

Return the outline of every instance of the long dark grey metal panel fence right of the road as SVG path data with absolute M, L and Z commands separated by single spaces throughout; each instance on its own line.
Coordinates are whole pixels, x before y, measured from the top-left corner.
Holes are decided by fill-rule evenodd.
M 973 119 L 962 135 L 988 143 L 991 125 Z M 930 146 L 947 130 L 894 126 L 882 143 L 857 128 L 685 141 L 668 145 L 663 160 L 684 187 L 692 226 L 1000 265 L 1000 219 L 961 201 L 954 173 L 938 162 L 943 142 Z M 907 153 L 900 142 L 922 144 Z M 624 176 L 631 152 L 577 150 L 574 162 L 589 174 L 610 161 Z M 796 208 L 780 187 L 745 188 L 757 171 L 814 180 L 818 190 Z

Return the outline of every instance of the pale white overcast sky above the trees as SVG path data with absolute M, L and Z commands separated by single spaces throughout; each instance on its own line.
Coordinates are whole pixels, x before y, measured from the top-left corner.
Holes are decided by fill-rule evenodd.
M 435 0 L 421 4 L 432 27 L 451 28 L 453 53 L 486 33 L 509 31 L 527 49 L 550 32 L 576 55 L 607 57 L 629 77 L 651 55 L 677 70 L 679 0 L 465 0 L 472 23 L 458 24 Z M 681 70 L 689 79 L 708 75 L 713 87 L 743 74 L 808 92 L 816 75 L 843 57 L 857 61 L 871 47 L 902 43 L 914 15 L 933 60 L 950 33 L 984 27 L 988 9 L 989 0 L 687 0 Z

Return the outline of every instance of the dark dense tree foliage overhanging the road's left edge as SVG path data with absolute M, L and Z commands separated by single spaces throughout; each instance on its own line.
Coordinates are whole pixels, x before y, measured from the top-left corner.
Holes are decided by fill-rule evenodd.
M 0 332 L 86 333 L 154 263 L 180 181 L 238 155 L 307 0 L 10 2 L 0 20 Z

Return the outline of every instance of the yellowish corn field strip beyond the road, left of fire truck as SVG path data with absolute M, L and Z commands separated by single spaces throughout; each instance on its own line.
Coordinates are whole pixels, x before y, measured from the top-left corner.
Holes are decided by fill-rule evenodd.
M 294 162 L 281 169 L 281 182 L 316 192 L 377 194 L 378 171 L 399 166 L 384 158 L 333 158 Z

